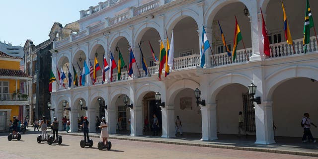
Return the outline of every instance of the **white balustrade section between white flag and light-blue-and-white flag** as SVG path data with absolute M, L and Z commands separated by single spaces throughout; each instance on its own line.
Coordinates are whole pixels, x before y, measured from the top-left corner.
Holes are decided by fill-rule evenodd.
M 200 65 L 200 55 L 194 54 L 174 58 L 174 70 L 196 67 Z

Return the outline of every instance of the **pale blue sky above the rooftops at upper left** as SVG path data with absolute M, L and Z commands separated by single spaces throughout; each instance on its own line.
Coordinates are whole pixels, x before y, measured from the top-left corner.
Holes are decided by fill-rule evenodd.
M 105 0 L 1 0 L 0 41 L 22 45 L 31 39 L 35 45 L 49 39 L 54 22 L 79 20 L 79 10 Z

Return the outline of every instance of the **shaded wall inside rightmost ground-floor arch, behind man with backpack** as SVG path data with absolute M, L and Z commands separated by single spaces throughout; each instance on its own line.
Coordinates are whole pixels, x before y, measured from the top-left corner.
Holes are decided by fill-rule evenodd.
M 275 136 L 302 137 L 300 122 L 304 113 L 318 124 L 318 81 L 308 78 L 290 79 L 280 84 L 273 93 L 273 121 L 277 127 Z M 312 134 L 318 137 L 318 129 L 312 126 Z

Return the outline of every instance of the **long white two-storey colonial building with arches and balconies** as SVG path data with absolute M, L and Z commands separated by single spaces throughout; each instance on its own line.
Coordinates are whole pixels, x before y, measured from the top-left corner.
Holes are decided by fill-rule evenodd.
M 303 28 L 306 0 L 283 0 L 295 52 L 284 36 L 283 10 L 280 0 L 107 0 L 80 11 L 79 32 L 64 33 L 57 30 L 52 55 L 52 71 L 69 66 L 74 75 L 83 68 L 85 60 L 93 63 L 97 56 L 102 66 L 103 55 L 110 63 L 112 52 L 116 63 L 119 51 L 126 65 L 129 65 L 129 48 L 133 49 L 137 65 L 132 78 L 125 68 L 121 79 L 114 69 L 113 81 L 108 72 L 102 82 L 91 84 L 86 76 L 85 86 L 60 88 L 59 81 L 53 84 L 52 117 L 59 120 L 64 115 L 62 103 L 71 108 L 71 130 L 78 131 L 78 118 L 87 116 L 90 131 L 95 131 L 96 116 L 105 116 L 108 131 L 116 134 L 118 117 L 124 118 L 121 128 L 131 119 L 131 135 L 143 135 L 144 119 L 157 114 L 163 138 L 174 137 L 174 120 L 178 115 L 183 132 L 200 133 L 202 140 L 218 139 L 218 134 L 238 133 L 239 111 L 244 115 L 244 127 L 248 134 L 256 135 L 257 144 L 274 143 L 273 124 L 277 127 L 275 136 L 300 137 L 303 130 L 300 121 L 305 112 L 318 122 L 318 45 L 311 30 L 308 53 L 303 53 Z M 318 1 L 310 0 L 314 21 L 318 23 Z M 262 19 L 264 13 L 272 56 L 263 54 Z M 233 49 L 235 15 L 246 47 L 238 45 L 237 59 L 231 63 L 222 43 L 218 20 L 226 42 Z M 200 46 L 202 26 L 205 27 L 212 46 L 205 55 L 205 66 L 200 68 Z M 54 30 L 54 28 L 53 28 Z M 152 58 L 149 41 L 159 57 L 160 37 L 164 43 L 171 40 L 174 31 L 174 69 L 161 81 L 158 65 Z M 166 35 L 167 31 L 167 35 Z M 160 37 L 159 37 L 160 36 Z M 141 44 L 149 73 L 146 76 L 141 65 Z M 78 64 L 79 63 L 79 67 Z M 255 96 L 260 104 L 252 102 L 247 86 L 257 86 Z M 67 85 L 67 83 L 66 83 Z M 206 104 L 196 104 L 194 90 L 199 88 L 201 99 Z M 161 94 L 164 107 L 158 108 L 155 93 Z M 133 108 L 125 107 L 123 97 L 127 95 Z M 98 98 L 103 99 L 107 109 L 100 109 Z M 84 101 L 80 109 L 79 100 Z M 254 107 L 255 106 L 255 107 Z M 253 108 L 254 107 L 254 108 Z M 67 110 L 68 111 L 68 110 Z M 53 114 L 54 113 L 54 114 Z M 151 118 L 148 119 L 151 122 Z M 312 130 L 314 136 L 317 129 Z

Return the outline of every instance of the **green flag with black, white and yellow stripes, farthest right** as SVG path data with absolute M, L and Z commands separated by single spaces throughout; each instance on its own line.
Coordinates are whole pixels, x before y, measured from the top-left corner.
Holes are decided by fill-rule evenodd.
M 303 45 L 304 47 L 304 53 L 307 52 L 307 44 L 310 42 L 310 28 L 314 27 L 314 19 L 312 16 L 312 11 L 310 10 L 309 0 L 307 0 L 306 5 L 306 13 L 305 13 L 305 25 L 304 25 L 304 39 L 303 39 Z

